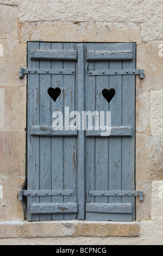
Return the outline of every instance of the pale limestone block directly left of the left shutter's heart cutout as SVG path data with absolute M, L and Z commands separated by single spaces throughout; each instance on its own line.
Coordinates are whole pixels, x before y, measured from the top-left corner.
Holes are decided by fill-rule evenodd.
M 27 87 L 5 87 L 5 130 L 26 128 Z

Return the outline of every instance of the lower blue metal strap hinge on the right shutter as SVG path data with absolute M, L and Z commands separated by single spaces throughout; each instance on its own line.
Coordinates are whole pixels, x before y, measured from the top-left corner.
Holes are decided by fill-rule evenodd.
M 89 195 L 92 197 L 140 197 L 140 201 L 143 201 L 142 191 L 90 191 Z

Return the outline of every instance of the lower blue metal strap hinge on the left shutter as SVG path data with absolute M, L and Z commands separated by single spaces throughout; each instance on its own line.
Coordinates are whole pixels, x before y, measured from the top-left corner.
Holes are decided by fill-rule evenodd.
M 27 197 L 47 197 L 47 196 L 74 196 L 73 190 L 20 190 L 18 200 L 22 201 L 23 196 Z

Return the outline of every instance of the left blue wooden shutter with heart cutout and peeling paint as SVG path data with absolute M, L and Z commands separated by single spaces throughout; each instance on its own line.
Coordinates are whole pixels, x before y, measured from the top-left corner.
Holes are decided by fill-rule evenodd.
M 28 221 L 77 218 L 78 133 L 52 129 L 54 111 L 76 109 L 76 59 L 75 44 L 28 43 Z

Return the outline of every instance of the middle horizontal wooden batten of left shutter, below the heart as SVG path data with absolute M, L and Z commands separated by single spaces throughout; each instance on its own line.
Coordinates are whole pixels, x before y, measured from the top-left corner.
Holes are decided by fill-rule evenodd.
M 42 126 L 42 125 L 33 125 L 31 127 L 31 135 L 33 136 L 78 136 L 78 131 L 72 131 L 71 127 L 70 130 L 65 131 L 65 127 L 60 127 L 63 130 L 55 131 L 52 126 Z

